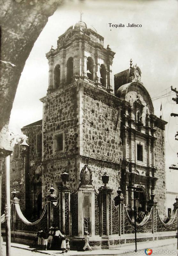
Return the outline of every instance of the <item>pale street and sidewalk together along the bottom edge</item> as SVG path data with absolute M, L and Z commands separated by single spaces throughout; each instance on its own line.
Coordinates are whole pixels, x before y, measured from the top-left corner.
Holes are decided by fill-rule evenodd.
M 3 243 L 3 256 L 5 256 L 5 243 Z M 91 256 L 117 256 L 117 255 L 147 255 L 145 253 L 145 249 L 149 248 L 152 249 L 152 253 L 150 255 L 177 255 L 177 239 L 171 238 L 171 239 L 165 239 L 165 240 L 156 240 L 154 242 L 148 241 L 144 243 L 138 243 L 137 244 L 137 252 L 135 252 L 135 244 L 124 244 L 121 247 L 117 247 L 114 249 L 108 249 L 108 250 L 93 250 L 93 251 L 85 251 L 85 252 L 79 252 L 79 251 L 70 251 L 67 253 L 61 253 L 61 251 L 53 251 L 53 250 L 47 250 L 47 251 L 41 251 L 36 250 L 35 248 L 32 248 L 28 245 L 24 244 L 17 244 L 17 243 L 11 243 L 11 256 L 41 256 L 41 255 L 55 255 L 59 256 L 61 255 L 72 255 L 72 256 L 83 256 L 83 255 L 91 255 Z

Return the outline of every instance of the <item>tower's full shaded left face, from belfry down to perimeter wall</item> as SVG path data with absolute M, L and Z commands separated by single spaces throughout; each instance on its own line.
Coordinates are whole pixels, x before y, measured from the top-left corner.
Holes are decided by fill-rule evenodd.
M 69 173 L 68 185 L 74 192 L 79 186 L 77 161 L 73 156 L 79 153 L 79 102 L 76 84 L 67 85 L 47 95 L 43 100 L 43 205 L 47 190 L 53 184 L 57 190 L 62 182 L 61 174 Z M 63 150 L 55 151 L 55 135 L 63 133 Z

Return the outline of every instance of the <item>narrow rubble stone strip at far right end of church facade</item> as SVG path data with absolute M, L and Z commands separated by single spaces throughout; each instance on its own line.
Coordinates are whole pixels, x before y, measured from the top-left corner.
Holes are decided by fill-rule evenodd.
M 165 172 L 165 131 L 159 127 L 155 127 L 155 166 L 158 168 L 156 177 L 158 178 L 155 186 L 155 200 L 158 202 L 159 214 L 161 216 L 166 214 L 164 204 L 166 202 L 166 172 Z

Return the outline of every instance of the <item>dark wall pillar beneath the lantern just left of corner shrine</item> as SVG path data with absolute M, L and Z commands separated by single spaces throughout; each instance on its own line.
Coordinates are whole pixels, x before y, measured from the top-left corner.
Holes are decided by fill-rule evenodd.
M 70 187 L 59 187 L 59 207 L 60 207 L 60 230 L 66 236 L 72 235 L 71 210 L 70 210 Z

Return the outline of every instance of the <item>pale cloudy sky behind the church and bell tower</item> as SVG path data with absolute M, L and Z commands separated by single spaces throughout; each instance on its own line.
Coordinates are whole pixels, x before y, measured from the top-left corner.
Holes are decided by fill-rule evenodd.
M 170 86 L 178 87 L 178 1 L 66 1 L 48 20 L 36 40 L 26 61 L 16 92 L 10 127 L 18 131 L 22 126 L 42 119 L 42 102 L 48 88 L 48 61 L 45 54 L 51 45 L 57 47 L 58 36 L 80 20 L 96 28 L 104 37 L 104 47 L 110 45 L 116 52 L 112 74 L 129 68 L 130 59 L 142 72 L 141 81 L 150 93 L 155 115 L 168 122 L 166 141 L 166 186 L 168 191 L 178 192 L 178 171 L 170 171 L 177 164 L 178 141 L 174 136 L 178 130 L 178 104 L 172 100 L 175 93 Z M 112 28 L 112 24 L 125 24 L 124 28 Z M 128 23 L 141 24 L 140 28 L 127 28 Z

